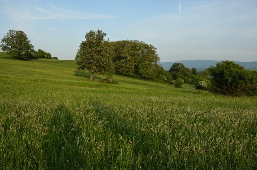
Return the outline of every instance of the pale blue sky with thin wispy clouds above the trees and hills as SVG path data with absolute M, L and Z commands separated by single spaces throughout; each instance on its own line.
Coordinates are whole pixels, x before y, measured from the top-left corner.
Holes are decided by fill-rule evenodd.
M 34 49 L 74 60 L 85 35 L 138 40 L 161 62 L 257 61 L 256 0 L 0 0 L 0 39 L 21 30 Z

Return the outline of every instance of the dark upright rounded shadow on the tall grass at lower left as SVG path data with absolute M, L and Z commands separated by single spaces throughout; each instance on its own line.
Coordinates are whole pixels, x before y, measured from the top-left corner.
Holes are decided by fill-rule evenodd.
M 47 169 L 77 169 L 82 166 L 83 158 L 77 144 L 77 135 L 82 133 L 82 129 L 75 124 L 71 111 L 64 105 L 57 106 L 45 126 L 48 131 L 41 148 Z

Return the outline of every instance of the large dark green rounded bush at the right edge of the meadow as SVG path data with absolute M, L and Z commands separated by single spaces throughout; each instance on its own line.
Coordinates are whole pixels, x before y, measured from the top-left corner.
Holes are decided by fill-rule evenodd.
M 257 76 L 234 61 L 224 60 L 210 66 L 210 92 L 229 96 L 252 96 L 256 94 Z

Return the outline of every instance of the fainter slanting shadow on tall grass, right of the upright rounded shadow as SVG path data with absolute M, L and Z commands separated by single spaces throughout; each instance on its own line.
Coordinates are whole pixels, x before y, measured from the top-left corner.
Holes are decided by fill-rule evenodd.
M 154 134 L 149 135 L 149 133 L 152 133 L 153 131 L 148 131 L 147 129 L 142 130 L 144 128 L 138 130 L 135 126 L 136 124 L 145 123 L 144 119 L 138 120 L 126 118 L 126 116 L 117 114 L 117 112 L 115 112 L 111 107 L 101 102 L 93 102 L 92 106 L 99 116 L 99 121 L 104 120 L 108 122 L 105 126 L 108 131 L 113 134 L 113 138 L 115 138 L 112 142 L 117 142 L 117 149 L 112 151 L 114 160 L 119 161 L 120 155 L 123 154 L 125 157 L 128 156 L 125 159 L 131 159 L 131 155 L 133 155 L 134 158 L 140 157 L 140 159 L 142 159 L 142 163 L 140 163 L 141 168 L 148 169 L 148 156 L 158 155 L 159 152 L 157 148 L 161 148 L 162 143 L 168 140 L 165 138 L 165 135 L 158 134 L 160 137 L 158 140 L 161 142 L 157 143 L 155 146 L 152 146 L 153 143 L 156 143 L 156 138 L 152 137 Z M 133 149 L 130 150 L 127 147 Z M 120 153 L 121 151 L 123 152 Z M 161 157 L 153 158 L 151 161 L 154 165 L 153 169 L 158 169 L 158 166 L 165 167 L 167 165 L 167 159 L 163 159 Z M 124 166 L 132 168 L 136 167 L 137 165 L 135 162 L 133 162 Z

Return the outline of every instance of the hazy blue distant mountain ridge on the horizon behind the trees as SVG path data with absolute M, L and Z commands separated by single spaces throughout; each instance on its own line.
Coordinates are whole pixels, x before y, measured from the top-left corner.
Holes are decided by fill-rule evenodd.
M 165 70 L 169 70 L 172 64 L 175 62 L 184 64 L 185 67 L 196 68 L 197 71 L 205 70 L 210 66 L 216 66 L 216 63 L 220 62 L 219 60 L 180 60 L 173 62 L 161 62 L 160 64 L 163 66 Z M 244 66 L 246 70 L 251 70 L 252 68 L 257 68 L 257 61 L 235 61 L 235 63 Z

